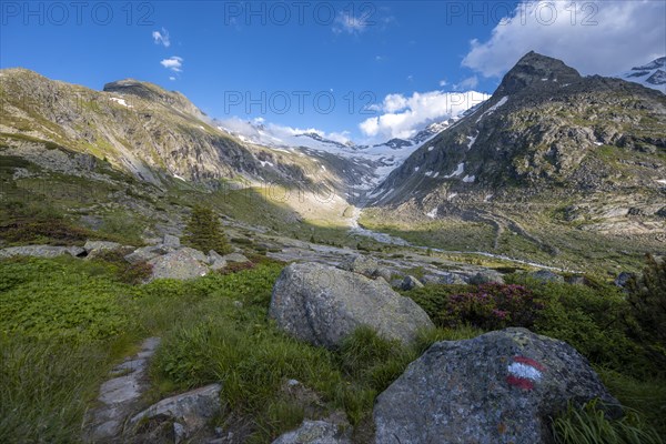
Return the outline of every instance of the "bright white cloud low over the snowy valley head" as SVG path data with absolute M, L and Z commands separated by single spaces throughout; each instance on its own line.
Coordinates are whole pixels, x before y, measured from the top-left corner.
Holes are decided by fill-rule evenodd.
M 389 94 L 381 105 L 374 107 L 374 110 L 381 110 L 384 114 L 364 120 L 359 128 L 375 140 L 406 139 L 424 125 L 460 115 L 488 98 L 475 91 L 414 92 L 411 97 Z

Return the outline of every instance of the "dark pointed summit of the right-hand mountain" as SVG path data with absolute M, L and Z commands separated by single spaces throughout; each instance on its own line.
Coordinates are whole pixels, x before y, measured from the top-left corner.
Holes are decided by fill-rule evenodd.
M 496 94 L 508 95 L 549 82 L 574 83 L 582 77 L 562 60 L 529 51 L 504 75 Z

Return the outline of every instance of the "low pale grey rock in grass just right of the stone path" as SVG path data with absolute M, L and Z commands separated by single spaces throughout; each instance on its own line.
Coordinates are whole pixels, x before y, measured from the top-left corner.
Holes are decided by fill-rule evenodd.
M 220 384 L 211 384 L 162 400 L 134 415 L 130 420 L 130 428 L 135 430 L 140 423 L 150 420 L 173 421 L 176 441 L 179 436 L 181 440 L 189 438 L 220 411 L 221 390 Z

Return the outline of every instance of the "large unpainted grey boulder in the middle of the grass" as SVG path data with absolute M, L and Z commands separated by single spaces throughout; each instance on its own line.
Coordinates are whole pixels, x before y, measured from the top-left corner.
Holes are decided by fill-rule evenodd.
M 291 335 L 334 349 L 362 325 L 380 336 L 408 343 L 431 329 L 427 314 L 383 279 L 317 263 L 286 266 L 273 287 L 270 315 Z

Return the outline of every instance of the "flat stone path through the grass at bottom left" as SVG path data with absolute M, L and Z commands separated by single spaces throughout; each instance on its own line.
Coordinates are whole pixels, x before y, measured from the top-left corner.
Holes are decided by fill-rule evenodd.
M 149 337 L 137 355 L 113 367 L 111 379 L 100 387 L 99 406 L 88 412 L 85 442 L 120 442 L 125 421 L 140 407 L 148 389 L 148 362 L 159 345 L 159 337 Z

